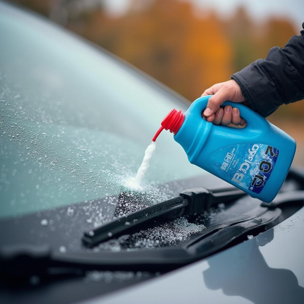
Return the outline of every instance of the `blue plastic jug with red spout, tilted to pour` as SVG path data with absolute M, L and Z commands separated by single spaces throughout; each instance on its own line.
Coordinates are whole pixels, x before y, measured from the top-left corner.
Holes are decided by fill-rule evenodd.
M 190 163 L 222 178 L 254 198 L 271 202 L 280 190 L 295 155 L 295 140 L 245 105 L 237 107 L 244 128 L 214 125 L 202 119 L 209 96 L 196 99 L 183 114 L 173 109 L 161 128 L 174 133 Z M 223 106 L 235 106 L 226 101 Z

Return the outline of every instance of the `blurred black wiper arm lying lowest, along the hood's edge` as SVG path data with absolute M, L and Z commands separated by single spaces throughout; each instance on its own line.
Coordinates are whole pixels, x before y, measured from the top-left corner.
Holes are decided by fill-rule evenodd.
M 230 192 L 231 197 L 237 195 L 232 193 L 233 191 Z M 210 194 L 207 196 L 210 197 Z M 214 197 L 214 201 L 218 201 L 220 195 L 213 193 L 211 197 Z M 276 200 L 282 206 L 287 202 L 302 202 L 304 192 L 283 192 L 277 195 Z M 210 203 L 212 204 L 212 199 L 205 207 Z M 181 209 L 186 207 L 181 207 Z M 28 283 L 33 275 L 51 279 L 58 276 L 83 275 L 89 270 L 166 272 L 219 252 L 231 244 L 247 240 L 248 234 L 257 235 L 281 221 L 280 208 L 257 206 L 256 209 L 247 213 L 216 224 L 212 230 L 202 233 L 182 246 L 136 251 L 61 253 L 49 245 L 2 245 L 0 247 L 0 277 L 8 284 L 11 282 L 15 286 L 17 282 Z

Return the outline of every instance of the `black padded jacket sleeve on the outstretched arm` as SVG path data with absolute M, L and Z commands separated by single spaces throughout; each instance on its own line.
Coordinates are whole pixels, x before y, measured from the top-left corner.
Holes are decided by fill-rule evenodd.
M 285 47 L 271 48 L 265 59 L 258 59 L 231 78 L 237 81 L 251 108 L 263 116 L 283 103 L 303 99 L 304 30 L 300 36 L 292 36 Z

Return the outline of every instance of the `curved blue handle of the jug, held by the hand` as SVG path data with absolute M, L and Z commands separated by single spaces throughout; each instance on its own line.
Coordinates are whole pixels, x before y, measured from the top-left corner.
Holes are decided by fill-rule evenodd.
M 192 102 L 187 112 L 201 116 L 202 111 L 206 109 L 208 100 L 211 96 L 212 95 L 207 95 L 197 98 L 194 102 Z M 225 101 L 223 103 L 223 106 L 226 105 L 231 105 L 233 108 L 234 107 L 238 108 L 240 110 L 241 117 L 246 120 L 247 126 L 249 126 L 252 129 L 256 129 L 257 127 L 260 129 L 261 124 L 266 123 L 266 119 L 263 116 L 253 111 L 252 109 L 248 108 L 246 105 L 242 105 L 241 103 L 236 103 L 231 101 Z M 247 126 L 245 126 L 245 128 Z

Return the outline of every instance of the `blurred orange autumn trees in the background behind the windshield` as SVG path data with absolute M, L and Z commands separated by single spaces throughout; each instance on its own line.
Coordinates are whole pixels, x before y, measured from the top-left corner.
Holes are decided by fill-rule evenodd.
M 122 14 L 110 14 L 102 0 L 15 2 L 97 43 L 189 100 L 299 35 L 287 17 L 268 16 L 261 22 L 243 6 L 223 18 L 215 9 L 198 9 L 185 0 L 130 0 Z M 304 103 L 297 102 L 269 117 L 295 137 L 300 151 L 303 112 Z M 296 161 L 304 164 L 299 156 Z

